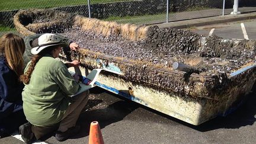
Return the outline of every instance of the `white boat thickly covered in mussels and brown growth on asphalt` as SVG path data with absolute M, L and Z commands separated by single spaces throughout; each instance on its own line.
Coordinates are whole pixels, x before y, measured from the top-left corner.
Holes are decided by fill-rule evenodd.
M 76 41 L 85 71 L 105 68 L 98 87 L 199 125 L 234 110 L 255 86 L 256 41 L 190 31 L 117 24 L 53 9 L 14 16 L 20 34 L 59 33 Z

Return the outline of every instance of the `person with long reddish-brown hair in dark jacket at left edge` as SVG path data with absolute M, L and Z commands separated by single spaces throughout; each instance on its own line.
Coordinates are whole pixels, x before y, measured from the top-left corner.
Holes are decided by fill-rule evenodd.
M 23 75 L 23 38 L 8 33 L 0 38 L 0 138 L 9 136 L 26 122 L 21 92 Z

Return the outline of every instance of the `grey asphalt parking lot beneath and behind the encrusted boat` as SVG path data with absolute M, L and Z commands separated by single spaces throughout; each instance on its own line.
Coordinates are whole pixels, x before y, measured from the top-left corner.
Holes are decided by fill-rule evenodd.
M 192 27 L 189 30 L 224 39 L 256 39 L 256 20 Z M 47 137 L 45 143 L 88 143 L 89 124 L 97 120 L 105 143 L 256 143 L 256 94 L 226 117 L 193 126 L 155 110 L 123 100 L 100 88 L 92 89 L 88 111 L 78 120 L 79 135 L 65 142 Z M 0 143 L 23 143 L 18 135 Z

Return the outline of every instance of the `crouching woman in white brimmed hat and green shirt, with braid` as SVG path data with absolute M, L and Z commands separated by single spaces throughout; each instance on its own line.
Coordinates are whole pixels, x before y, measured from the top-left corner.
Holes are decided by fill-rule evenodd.
M 31 49 L 34 57 L 21 76 L 25 84 L 24 113 L 32 124 L 20 127 L 25 142 L 29 143 L 33 137 L 30 127 L 36 139 L 57 130 L 55 137 L 59 141 L 79 131 L 76 121 L 87 104 L 89 91 L 70 97 L 78 92 L 79 84 L 64 63 L 55 59 L 62 46 L 55 34 L 43 34 L 39 37 L 39 46 Z

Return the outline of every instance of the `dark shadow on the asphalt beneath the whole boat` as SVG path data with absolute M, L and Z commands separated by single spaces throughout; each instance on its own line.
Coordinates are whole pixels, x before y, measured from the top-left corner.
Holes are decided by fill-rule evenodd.
M 107 92 L 102 89 L 94 89 L 94 94 L 97 92 L 98 94 L 106 92 L 123 100 L 116 101 L 113 104 L 108 105 L 106 108 L 89 110 L 81 114 L 77 122 L 77 124 L 81 126 L 81 132 L 78 135 L 72 137 L 72 139 L 88 136 L 89 126 L 92 121 L 98 121 L 101 129 L 103 129 L 105 126 L 108 126 L 109 124 L 123 120 L 124 117 L 126 117 L 128 114 L 132 113 L 132 111 L 136 110 L 139 107 L 151 111 L 152 113 L 158 114 L 159 116 L 165 117 L 169 120 L 183 124 L 184 126 L 191 127 L 192 129 L 195 130 L 199 130 L 200 132 L 207 132 L 215 129 L 238 129 L 239 127 L 253 125 L 256 121 L 255 92 L 249 94 L 247 100 L 245 100 L 245 103 L 242 104 L 233 113 L 229 114 L 226 117 L 216 117 L 215 119 L 207 121 L 206 123 L 203 123 L 199 126 L 194 126 L 192 124 L 185 123 L 184 121 L 175 119 L 174 117 L 168 116 L 167 114 L 163 114 L 159 111 L 152 110 L 151 108 L 137 104 L 133 101 L 126 100 L 125 98 L 122 98 L 119 95 L 115 95 L 111 92 Z M 89 101 L 88 104 L 90 103 Z M 92 101 L 91 103 L 95 103 L 97 105 L 99 103 L 102 103 L 102 100 Z M 93 107 L 93 105 L 90 105 L 90 107 Z

